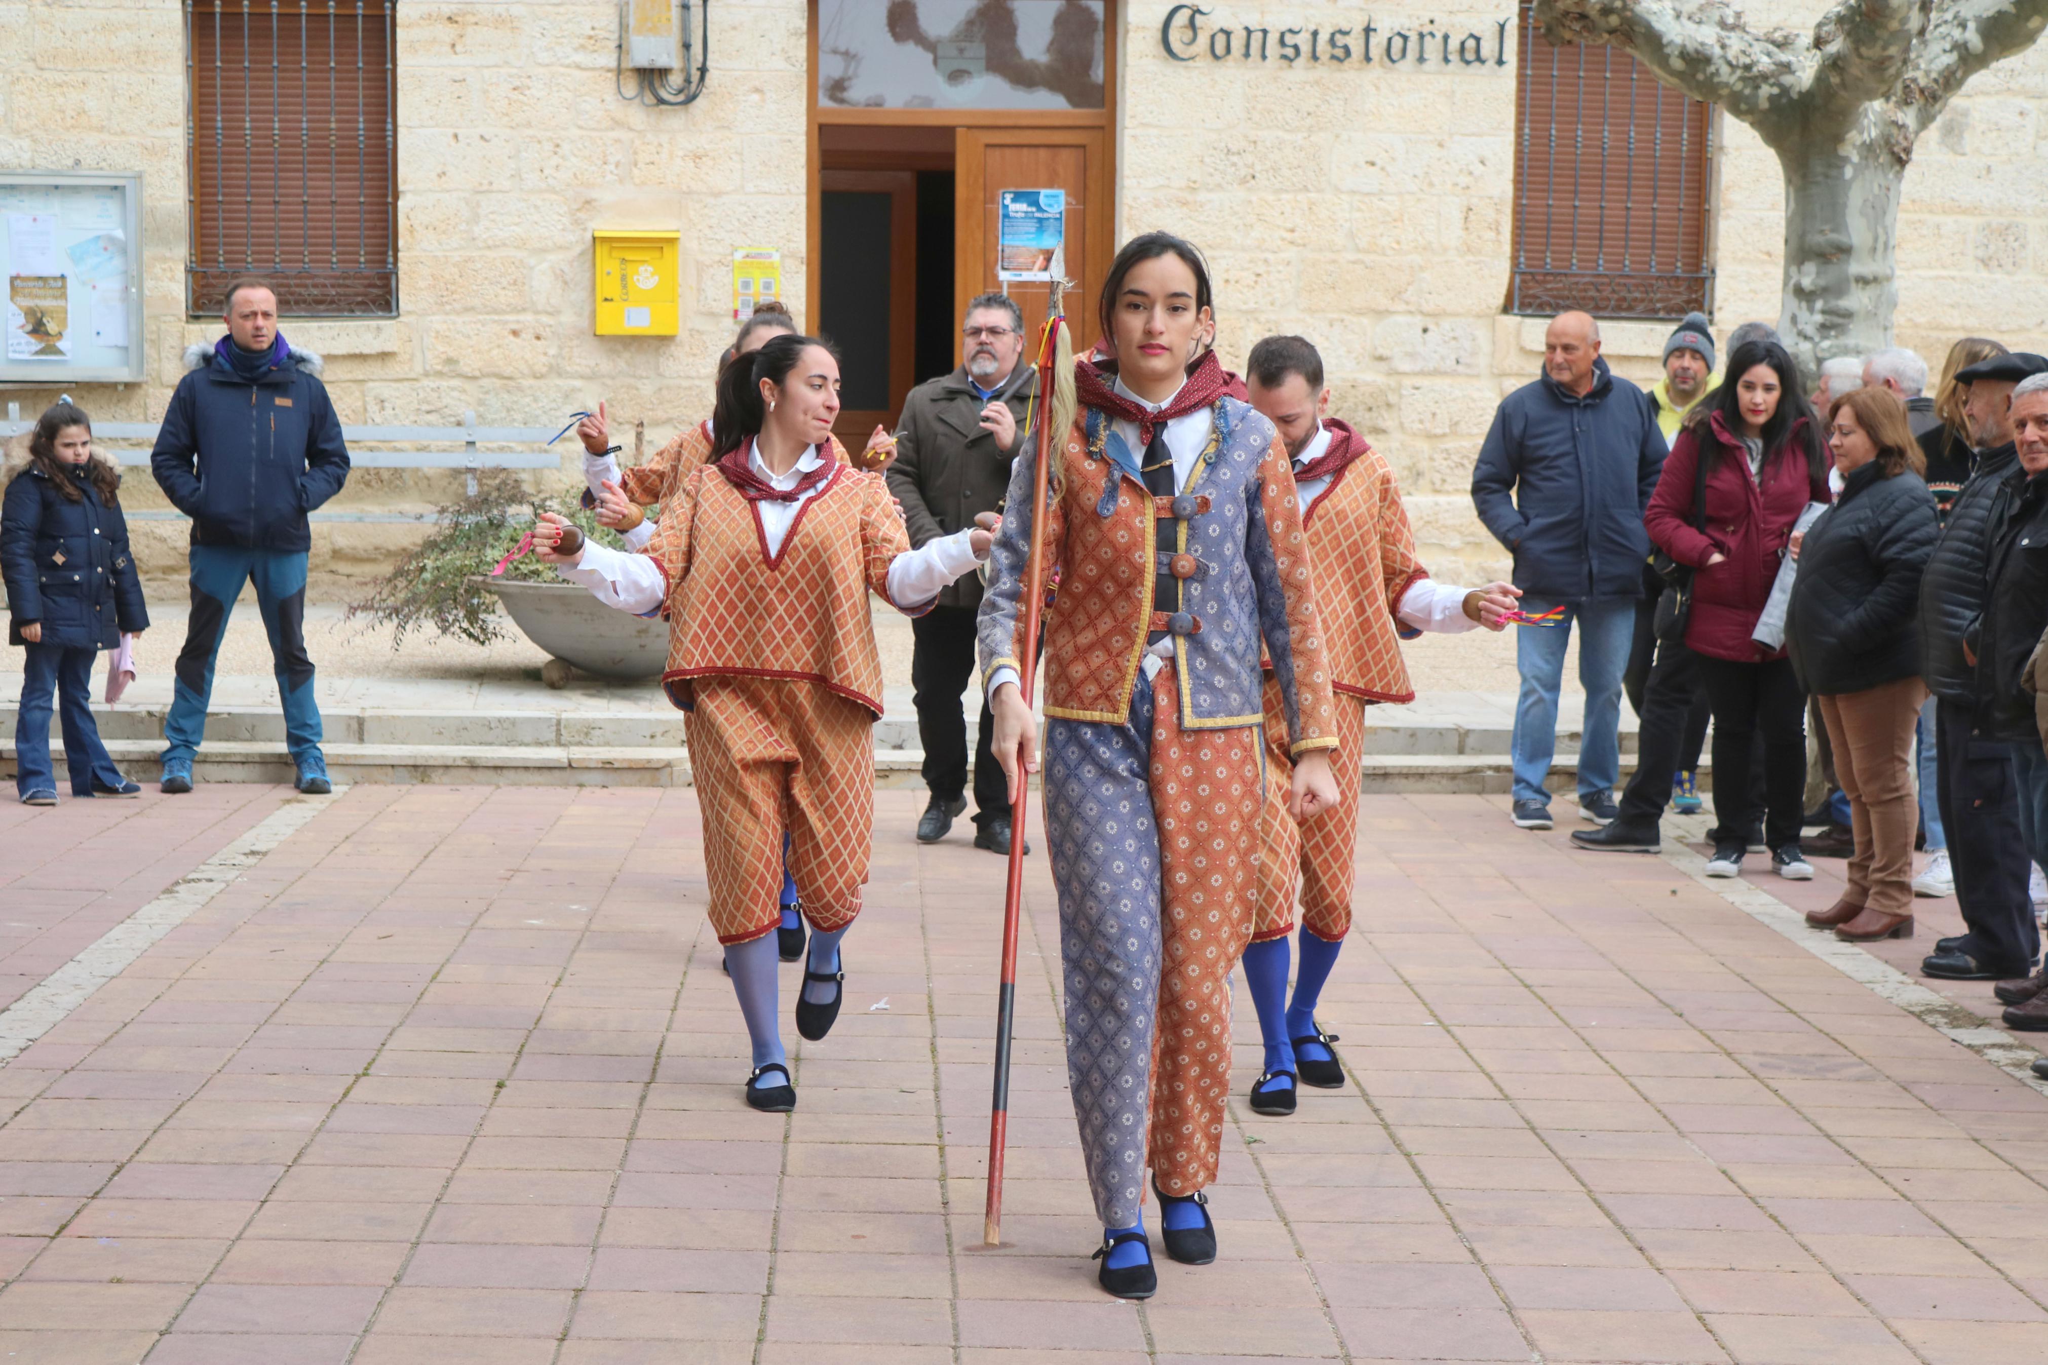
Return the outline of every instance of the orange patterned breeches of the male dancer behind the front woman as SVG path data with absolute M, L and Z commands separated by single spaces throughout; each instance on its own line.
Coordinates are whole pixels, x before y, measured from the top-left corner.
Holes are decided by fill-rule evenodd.
M 1286 810 L 1294 782 L 1288 757 L 1286 712 L 1280 684 L 1266 679 L 1266 802 L 1260 810 L 1260 872 L 1253 892 L 1251 941 L 1286 937 L 1294 931 L 1294 894 L 1300 892 L 1300 923 L 1319 939 L 1337 943 L 1352 931 L 1352 882 L 1358 849 L 1360 747 L 1366 737 L 1366 700 L 1337 694 L 1337 747 L 1327 749 L 1337 778 L 1337 808 L 1307 825 Z

